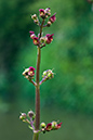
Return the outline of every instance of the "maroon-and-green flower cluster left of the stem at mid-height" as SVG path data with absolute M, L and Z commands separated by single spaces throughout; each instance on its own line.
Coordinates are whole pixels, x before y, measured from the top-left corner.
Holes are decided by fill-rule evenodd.
M 35 68 L 32 66 L 30 66 L 29 68 L 25 68 L 25 71 L 23 72 L 23 75 L 28 79 L 32 79 L 35 76 Z

